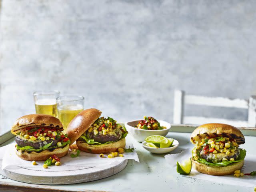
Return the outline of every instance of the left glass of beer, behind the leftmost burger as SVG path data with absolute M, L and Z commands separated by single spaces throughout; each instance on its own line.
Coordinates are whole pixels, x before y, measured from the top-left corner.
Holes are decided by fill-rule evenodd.
M 36 113 L 57 117 L 56 98 L 60 96 L 59 91 L 36 91 L 33 96 Z

